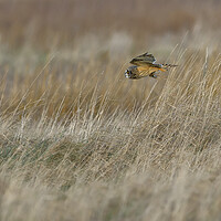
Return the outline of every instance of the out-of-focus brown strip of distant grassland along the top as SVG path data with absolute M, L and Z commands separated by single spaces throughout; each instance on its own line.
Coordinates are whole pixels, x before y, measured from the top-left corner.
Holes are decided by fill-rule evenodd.
M 10 45 L 30 43 L 43 50 L 69 49 L 88 33 L 108 38 L 126 32 L 136 41 L 147 41 L 190 31 L 196 24 L 219 30 L 220 9 L 219 0 L 1 0 L 0 32 L 2 42 Z

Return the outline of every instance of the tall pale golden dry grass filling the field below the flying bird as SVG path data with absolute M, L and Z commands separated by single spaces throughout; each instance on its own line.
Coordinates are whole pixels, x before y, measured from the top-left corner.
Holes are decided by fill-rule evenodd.
M 157 81 L 125 62 L 2 69 L 1 220 L 220 219 L 220 54 L 175 50 Z

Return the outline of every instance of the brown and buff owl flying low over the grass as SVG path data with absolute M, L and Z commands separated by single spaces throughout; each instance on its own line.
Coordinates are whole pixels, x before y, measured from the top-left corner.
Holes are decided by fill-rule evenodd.
M 131 80 L 138 80 L 145 76 L 157 78 L 156 72 L 166 72 L 169 67 L 177 66 L 175 64 L 156 64 L 156 59 L 148 52 L 136 56 L 129 63 L 134 64 L 125 71 L 125 76 Z

